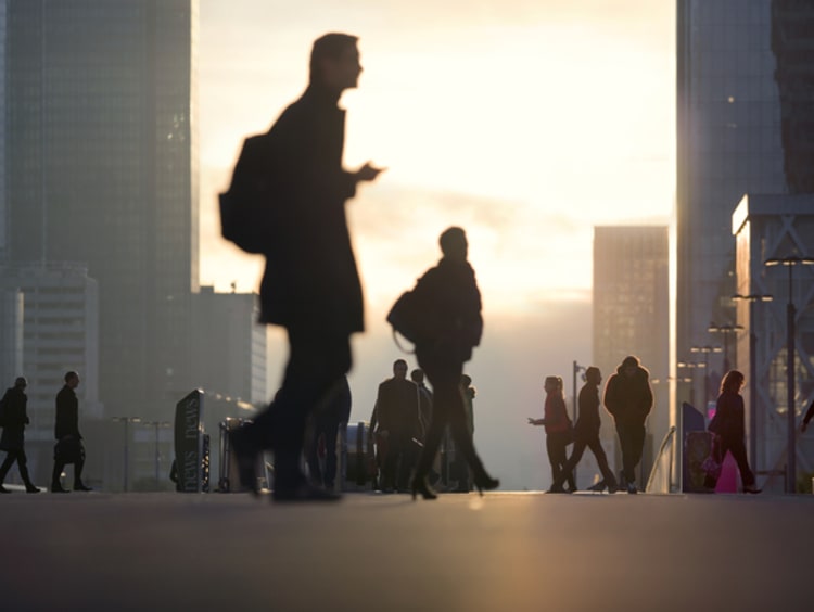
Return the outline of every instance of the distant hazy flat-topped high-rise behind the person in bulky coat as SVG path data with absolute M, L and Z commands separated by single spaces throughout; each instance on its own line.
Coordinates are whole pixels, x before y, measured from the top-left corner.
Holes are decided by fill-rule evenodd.
M 669 411 L 669 246 L 667 228 L 594 228 L 594 361 L 605 381 L 635 355 L 650 371 L 656 398 L 648 418 L 647 480 L 652 451 L 670 429 Z M 609 419 L 603 430 L 614 437 Z

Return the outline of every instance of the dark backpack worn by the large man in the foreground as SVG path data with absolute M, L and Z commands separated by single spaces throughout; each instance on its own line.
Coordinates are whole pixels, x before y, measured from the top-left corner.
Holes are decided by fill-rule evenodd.
M 221 234 L 246 253 L 264 253 L 272 240 L 267 167 L 270 140 L 269 133 L 245 139 L 229 191 L 219 196 Z

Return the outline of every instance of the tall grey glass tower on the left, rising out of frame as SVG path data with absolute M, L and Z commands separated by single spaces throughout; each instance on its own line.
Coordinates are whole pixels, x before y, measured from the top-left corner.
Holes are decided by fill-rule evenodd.
M 87 265 L 107 415 L 166 413 L 199 384 L 198 2 L 9 0 L 5 18 L 7 259 Z

